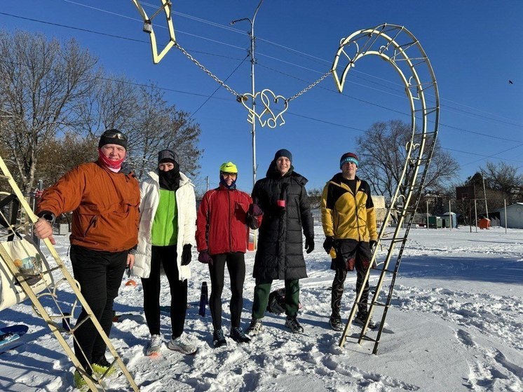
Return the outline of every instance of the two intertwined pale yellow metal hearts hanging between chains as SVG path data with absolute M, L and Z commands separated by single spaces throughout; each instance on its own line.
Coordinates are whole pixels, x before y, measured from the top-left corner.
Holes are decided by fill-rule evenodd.
M 258 96 L 260 97 L 261 103 L 264 105 L 264 109 L 259 114 L 257 114 L 256 111 L 252 110 L 252 107 L 247 106 L 247 102 L 249 100 L 252 102 L 252 100 L 255 100 Z M 280 102 L 280 100 L 283 101 L 283 107 L 278 110 L 276 105 L 278 104 L 278 102 Z M 261 90 L 254 95 L 249 93 L 243 94 L 240 102 L 243 104 L 243 107 L 245 107 L 245 109 L 249 111 L 247 121 L 250 123 L 254 123 L 254 121 L 257 119 L 259 121 L 260 126 L 268 126 L 269 128 L 276 128 L 276 126 L 283 126 L 283 124 L 285 124 L 283 114 L 285 113 L 285 111 L 287 111 L 289 103 L 287 102 L 287 100 L 285 100 L 285 97 L 283 97 L 283 95 L 276 95 L 271 90 L 269 90 L 269 88 Z M 272 109 L 271 102 L 273 103 Z M 274 114 L 275 112 L 278 113 L 276 116 Z M 264 118 L 266 117 L 266 115 L 269 115 L 269 118 L 265 120 Z M 280 120 L 279 123 L 278 119 Z

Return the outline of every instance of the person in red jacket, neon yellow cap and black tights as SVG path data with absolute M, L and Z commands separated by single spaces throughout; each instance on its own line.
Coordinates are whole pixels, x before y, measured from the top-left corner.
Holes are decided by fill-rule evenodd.
M 219 168 L 219 187 L 203 195 L 196 218 L 196 245 L 198 260 L 209 264 L 211 280 L 210 311 L 215 347 L 227 344 L 222 330 L 222 290 L 225 264 L 231 278 L 231 338 L 248 343 L 240 327 L 243 309 L 243 282 L 245 281 L 245 252 L 247 225 L 257 229 L 261 210 L 252 204 L 252 198 L 236 189 L 238 169 L 232 162 Z

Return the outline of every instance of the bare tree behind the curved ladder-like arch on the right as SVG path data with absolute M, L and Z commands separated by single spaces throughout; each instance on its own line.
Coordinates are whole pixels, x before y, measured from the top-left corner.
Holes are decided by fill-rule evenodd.
M 372 187 L 374 194 L 390 198 L 400 182 L 406 145 L 411 139 L 409 124 L 399 120 L 374 123 L 365 135 L 356 140 L 360 156 L 359 173 Z M 436 142 L 433 159 L 426 177 L 426 189 L 442 189 L 444 182 L 458 174 L 459 164 Z M 409 175 L 409 173 L 407 173 Z

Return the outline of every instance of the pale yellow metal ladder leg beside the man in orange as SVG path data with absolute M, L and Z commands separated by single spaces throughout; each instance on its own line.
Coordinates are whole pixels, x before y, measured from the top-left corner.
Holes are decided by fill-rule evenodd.
M 9 172 L 6 166 L 6 163 L 1 158 L 1 156 L 0 171 L 0 179 L 7 180 L 8 184 L 11 187 L 12 194 L 15 195 L 15 198 L 18 199 L 18 201 L 20 202 L 22 210 L 25 211 L 25 214 L 30 220 L 30 223 L 34 224 L 38 217 L 34 215 L 32 208 L 29 206 L 29 203 L 27 203 L 27 201 L 25 200 L 22 192 L 20 191 L 20 188 L 13 180 L 13 177 L 11 176 L 11 173 Z M 29 224 L 29 222 L 27 222 L 26 224 L 15 225 L 9 223 L 1 211 L 0 215 L 4 219 L 4 224 L 8 224 L 7 235 L 20 238 L 20 234 L 18 233 L 18 231 L 20 230 L 20 228 L 26 227 L 27 224 Z M 119 372 L 121 372 L 121 374 L 123 374 L 123 376 L 127 379 L 129 384 L 129 390 L 140 391 L 138 386 L 135 384 L 133 377 L 127 370 L 127 367 L 125 367 L 123 360 L 121 360 L 120 356 L 118 356 L 118 353 L 114 349 L 114 346 L 111 344 L 109 337 L 107 337 L 107 334 L 105 334 L 104 330 L 102 330 L 102 326 L 93 314 L 93 311 L 91 311 L 88 303 L 86 302 L 86 299 L 84 299 L 83 295 L 81 295 L 77 282 L 74 280 L 72 275 L 64 266 L 64 263 L 60 259 L 60 256 L 57 254 L 55 248 L 48 239 L 43 240 L 43 243 L 46 244 L 50 252 L 50 255 L 52 255 L 54 259 L 54 264 L 48 263 L 48 268 L 43 268 L 43 264 L 42 267 L 33 264 L 34 271 L 36 272 L 31 274 L 22 273 L 18 266 L 15 264 L 15 259 L 13 259 L 13 257 L 11 257 L 11 255 L 9 255 L 9 253 L 6 252 L 6 249 L 2 246 L 0 246 L 0 263 L 3 264 L 3 266 L 7 268 L 7 271 L 10 271 L 11 274 L 15 277 L 16 283 L 20 285 L 25 295 L 27 295 L 27 298 L 31 300 L 36 315 L 46 322 L 50 329 L 50 333 L 53 334 L 55 338 L 58 340 L 60 346 L 62 346 L 62 349 L 64 349 L 64 352 L 72 361 L 74 367 L 76 367 L 76 369 L 83 375 L 83 379 L 85 379 L 90 391 L 105 391 L 104 381 L 107 379 L 107 374 L 109 373 L 109 370 L 111 370 L 111 368 L 113 367 L 117 367 L 116 371 L 118 372 L 119 370 Z M 22 255 L 22 257 L 23 256 L 24 255 Z M 57 279 L 57 283 L 53 283 L 51 285 L 46 283 L 46 288 L 43 290 L 43 292 L 35 293 L 32 289 L 32 286 L 28 283 L 29 279 L 34 280 L 35 278 L 41 278 L 45 281 L 44 278 L 48 276 L 57 276 L 59 279 Z M 79 302 L 81 306 L 83 306 L 83 308 L 86 309 L 87 312 L 87 317 L 84 318 L 81 323 L 76 324 L 74 326 L 69 324 L 69 314 L 62 310 L 63 305 L 60 305 L 57 299 L 56 288 L 58 285 L 62 284 L 65 286 L 65 289 L 70 289 L 70 291 L 72 291 L 74 294 L 73 309 L 76 303 Z M 41 298 L 43 296 L 50 297 L 51 305 L 46 304 L 46 306 L 43 306 L 43 304 L 41 303 Z M 53 311 L 55 313 L 50 314 L 50 311 Z M 107 344 L 107 349 L 109 349 L 109 352 L 111 353 L 111 356 L 113 358 L 112 362 L 109 360 L 109 362 L 111 363 L 109 370 L 107 370 L 107 372 L 103 374 L 101 377 L 96 377 L 94 372 L 92 375 L 86 373 L 86 369 L 81 365 L 74 353 L 74 350 L 72 349 L 71 340 L 69 340 L 68 342 L 67 339 L 67 337 L 69 336 L 71 336 L 72 339 L 76 339 L 74 337 L 75 330 L 78 327 L 80 327 L 81 324 L 85 323 L 88 320 L 90 320 L 93 323 L 93 325 L 95 325 L 97 332 L 100 334 L 105 344 Z M 93 369 L 91 368 L 91 371 L 92 370 Z

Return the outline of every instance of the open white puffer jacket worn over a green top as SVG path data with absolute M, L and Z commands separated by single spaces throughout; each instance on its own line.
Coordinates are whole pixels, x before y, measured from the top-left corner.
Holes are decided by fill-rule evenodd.
M 147 173 L 149 177 L 140 184 L 140 229 L 138 231 L 138 248 L 135 255 L 133 275 L 149 278 L 151 273 L 151 229 L 154 215 L 160 202 L 160 184 L 158 170 Z M 194 185 L 183 173 L 179 173 L 179 188 L 176 190 L 176 207 L 178 209 L 178 241 L 176 244 L 178 276 L 180 281 L 191 278 L 191 269 L 182 266 L 184 245 L 196 245 L 196 197 Z

